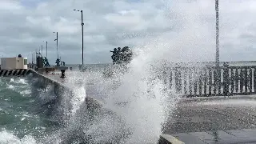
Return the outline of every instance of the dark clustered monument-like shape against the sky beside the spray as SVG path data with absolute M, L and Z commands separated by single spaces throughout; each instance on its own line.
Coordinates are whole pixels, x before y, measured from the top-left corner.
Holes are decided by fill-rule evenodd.
M 130 62 L 133 55 L 132 50 L 128 46 L 125 46 L 122 49 L 121 47 L 114 48 L 114 50 L 113 51 L 110 50 L 110 52 L 113 53 L 111 58 L 113 59 L 114 64 Z

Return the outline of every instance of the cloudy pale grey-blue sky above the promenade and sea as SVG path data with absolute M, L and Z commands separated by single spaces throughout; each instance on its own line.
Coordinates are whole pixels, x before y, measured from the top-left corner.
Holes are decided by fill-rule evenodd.
M 46 54 L 47 41 L 48 59 L 54 63 L 53 32 L 58 31 L 62 61 L 81 63 L 81 13 L 74 9 L 83 10 L 85 63 L 111 62 L 114 47 L 138 48 L 149 41 L 161 42 L 154 41 L 159 38 L 171 41 L 184 25 L 193 29 L 183 34 L 184 41 L 186 36 L 201 37 L 193 44 L 184 42 L 181 49 L 186 51 L 189 45 L 187 51 L 214 61 L 214 0 L 0 0 L 0 56 L 22 54 L 30 61 L 41 46 Z M 220 0 L 219 14 L 220 60 L 256 60 L 256 1 Z

